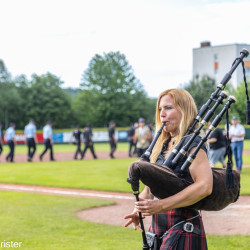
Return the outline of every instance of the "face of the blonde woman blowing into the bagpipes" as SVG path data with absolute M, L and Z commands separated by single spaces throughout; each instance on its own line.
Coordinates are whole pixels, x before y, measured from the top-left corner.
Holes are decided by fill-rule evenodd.
M 159 103 L 159 112 L 161 122 L 165 122 L 164 130 L 169 132 L 171 136 L 175 136 L 179 132 L 181 122 L 181 112 L 174 106 L 171 95 L 164 95 Z

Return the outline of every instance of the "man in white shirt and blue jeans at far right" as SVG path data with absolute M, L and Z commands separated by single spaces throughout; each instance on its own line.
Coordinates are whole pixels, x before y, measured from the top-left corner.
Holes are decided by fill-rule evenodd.
M 245 137 L 245 128 L 239 124 L 237 116 L 233 116 L 231 120 L 232 125 L 229 128 L 229 139 L 231 139 L 231 148 L 234 155 L 237 171 L 242 170 L 242 153 L 243 141 Z

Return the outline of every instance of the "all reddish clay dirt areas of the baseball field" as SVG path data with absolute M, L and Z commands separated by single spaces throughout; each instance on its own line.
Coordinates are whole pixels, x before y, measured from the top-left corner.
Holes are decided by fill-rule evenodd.
M 57 161 L 67 161 L 73 159 L 74 153 L 56 153 Z M 98 152 L 99 159 L 108 159 L 108 152 Z M 127 152 L 116 152 L 117 158 L 127 158 Z M 3 155 L 1 157 L 5 159 Z M 85 159 L 92 159 L 90 152 L 86 153 Z M 16 155 L 16 162 L 25 162 L 26 155 Z M 49 154 L 45 155 L 44 161 L 49 160 Z M 38 155 L 34 157 L 34 161 L 39 161 Z M 248 166 L 245 166 L 248 167 Z M 244 168 L 244 166 L 243 166 Z M 84 211 L 79 211 L 77 216 L 83 220 L 89 220 L 98 223 L 111 225 L 123 225 L 125 220 L 124 215 L 133 210 L 134 197 L 132 194 L 65 189 L 65 188 L 50 188 L 38 186 L 25 186 L 13 184 L 0 184 L 0 190 L 13 190 L 21 192 L 38 192 L 56 195 L 71 195 L 81 197 L 93 197 L 100 199 L 113 200 L 116 205 L 92 208 Z M 250 196 L 241 196 L 239 200 L 229 205 L 227 208 L 217 212 L 202 211 L 202 217 L 205 225 L 205 230 L 208 234 L 214 235 L 231 235 L 231 234 L 250 234 Z M 145 220 L 145 227 L 150 225 L 150 217 Z

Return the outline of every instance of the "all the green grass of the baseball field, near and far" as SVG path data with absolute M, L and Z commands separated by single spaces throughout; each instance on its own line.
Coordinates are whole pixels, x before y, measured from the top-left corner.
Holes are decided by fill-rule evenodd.
M 39 146 L 42 150 L 43 146 Z M 20 150 L 17 153 L 26 153 L 25 145 L 16 149 Z M 250 149 L 248 141 L 245 149 Z M 55 145 L 55 150 L 74 152 L 75 146 Z M 118 150 L 127 151 L 127 143 L 119 144 Z M 109 145 L 96 144 L 96 151 L 109 151 Z M 128 166 L 134 160 L 3 163 L 0 182 L 131 192 L 126 178 Z M 244 164 L 250 164 L 250 156 L 244 155 Z M 250 168 L 244 168 L 241 194 L 250 195 L 249 178 Z M 108 205 L 110 201 L 7 191 L 0 192 L 0 199 L 0 242 L 22 242 L 21 249 L 32 250 L 142 248 L 140 232 L 82 221 L 75 215 L 76 211 Z M 248 235 L 208 235 L 207 239 L 210 250 L 245 250 L 250 245 Z

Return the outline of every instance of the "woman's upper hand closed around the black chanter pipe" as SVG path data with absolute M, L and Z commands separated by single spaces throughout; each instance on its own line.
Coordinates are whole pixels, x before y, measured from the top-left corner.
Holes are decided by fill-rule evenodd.
M 157 214 L 163 210 L 161 200 L 144 200 L 135 202 L 137 212 L 141 212 L 143 216 Z

